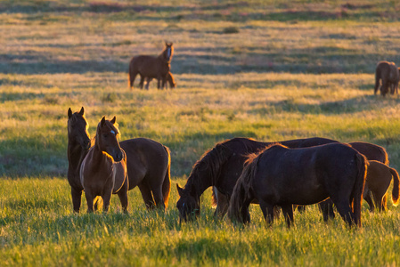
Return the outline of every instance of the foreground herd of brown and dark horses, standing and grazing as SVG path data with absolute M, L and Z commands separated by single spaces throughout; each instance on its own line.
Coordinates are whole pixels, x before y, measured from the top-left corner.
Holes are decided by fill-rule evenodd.
M 102 117 L 93 139 L 85 109 L 68 110 L 68 181 L 73 209 L 79 212 L 85 191 L 87 212 L 102 199 L 107 212 L 117 194 L 127 213 L 127 191 L 138 186 L 148 209 L 167 207 L 171 190 L 168 148 L 146 138 L 118 142 L 116 117 Z M 213 187 L 216 216 L 249 223 L 249 205 L 258 204 L 268 224 L 282 208 L 288 227 L 293 209 L 319 204 L 325 221 L 333 205 L 349 226 L 361 226 L 361 204 L 387 209 L 387 191 L 399 199 L 399 175 L 388 166 L 387 151 L 369 142 L 341 143 L 313 137 L 282 142 L 233 138 L 219 142 L 192 167 L 184 188 L 176 184 L 180 220 L 200 214 L 200 196 Z

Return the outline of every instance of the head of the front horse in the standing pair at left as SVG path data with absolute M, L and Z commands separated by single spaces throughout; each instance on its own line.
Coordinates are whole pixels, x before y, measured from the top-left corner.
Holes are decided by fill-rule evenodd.
M 100 150 L 106 152 L 114 161 L 118 162 L 124 156 L 119 147 L 119 131 L 117 125 L 115 125 L 115 121 L 116 117 L 113 117 L 111 120 L 106 120 L 105 117 L 102 117 L 99 125 L 97 125 L 95 145 L 99 146 Z

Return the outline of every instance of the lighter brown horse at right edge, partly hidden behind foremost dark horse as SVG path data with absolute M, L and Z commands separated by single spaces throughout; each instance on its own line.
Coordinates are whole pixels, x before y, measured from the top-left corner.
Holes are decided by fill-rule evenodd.
M 398 205 L 399 200 L 399 175 L 396 169 L 389 167 L 377 160 L 369 160 L 368 173 L 363 190 L 363 199 L 370 206 L 370 211 L 374 211 L 376 207 L 380 211 L 388 209 L 387 191 L 393 178 L 392 201 L 393 206 Z M 372 200 L 372 198 L 373 200 Z M 319 203 L 322 211 L 323 221 L 327 222 L 330 218 L 335 217 L 333 211 L 333 203 L 331 199 L 326 199 Z

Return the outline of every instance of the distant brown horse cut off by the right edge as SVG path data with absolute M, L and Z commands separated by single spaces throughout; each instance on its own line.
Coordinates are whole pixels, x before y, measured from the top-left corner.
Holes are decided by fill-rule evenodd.
M 389 87 L 391 94 L 398 93 L 399 69 L 396 67 L 395 62 L 380 61 L 375 70 L 375 87 L 373 93 L 376 94 L 378 88 L 380 88 L 380 94 L 385 96 L 388 93 Z M 380 80 L 382 80 L 381 86 Z

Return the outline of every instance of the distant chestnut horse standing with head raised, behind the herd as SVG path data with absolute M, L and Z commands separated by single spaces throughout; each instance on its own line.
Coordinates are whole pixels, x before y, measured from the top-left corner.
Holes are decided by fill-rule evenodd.
M 156 78 L 158 80 L 157 88 L 159 89 L 160 82 L 162 87 L 166 84 L 169 69 L 171 69 L 171 60 L 174 54 L 174 46 L 172 43 L 165 43 L 166 47 L 158 57 L 150 55 L 138 55 L 132 58 L 129 63 L 129 86 L 133 88 L 136 75 L 141 76 L 140 87 L 143 89 L 144 78 Z M 149 89 L 149 82 L 146 84 L 146 89 Z

